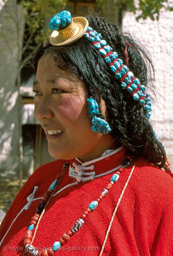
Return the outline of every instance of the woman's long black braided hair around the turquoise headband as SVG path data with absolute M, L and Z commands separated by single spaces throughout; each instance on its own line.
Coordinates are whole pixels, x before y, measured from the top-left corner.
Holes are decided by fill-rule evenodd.
M 116 24 L 108 23 L 103 17 L 87 16 L 90 27 L 102 34 L 103 39 L 118 53 L 123 63 L 142 85 L 148 86 L 148 71 L 152 61 L 146 51 L 137 44 L 130 34 L 125 34 Z M 96 49 L 82 36 L 69 46 L 56 47 L 49 44 L 40 49 L 34 58 L 35 70 L 43 54 L 52 54 L 55 64 L 76 74 L 86 85 L 88 94 L 99 102 L 106 103 L 107 122 L 112 137 L 127 148 L 127 153 L 136 158 L 144 157 L 153 164 L 163 167 L 166 153 L 163 145 L 155 138 L 152 126 L 144 109 L 125 89 L 120 81 L 113 78 L 107 64 Z M 128 59 L 128 60 L 127 60 Z

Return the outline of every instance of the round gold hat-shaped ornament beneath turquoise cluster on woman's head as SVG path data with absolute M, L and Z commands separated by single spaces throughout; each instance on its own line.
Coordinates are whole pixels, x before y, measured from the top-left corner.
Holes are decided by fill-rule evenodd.
M 64 30 L 54 30 L 50 36 L 50 43 L 53 46 L 64 46 L 78 40 L 86 32 L 88 21 L 84 17 L 72 18 L 71 24 Z

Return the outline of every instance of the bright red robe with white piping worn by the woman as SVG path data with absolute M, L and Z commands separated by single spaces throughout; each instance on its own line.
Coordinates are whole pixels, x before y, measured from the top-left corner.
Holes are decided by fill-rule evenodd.
M 125 149 L 89 162 L 96 175 L 112 170 L 125 159 Z M 17 194 L 0 226 L 1 256 L 22 255 L 23 235 L 45 191 L 60 174 L 65 160 L 57 160 L 39 167 Z M 81 165 L 76 159 L 70 160 Z M 55 253 L 59 256 L 98 256 L 114 208 L 133 167 L 134 161 L 120 174 L 98 207 L 85 219 L 81 229 Z M 52 247 L 60 236 L 80 218 L 83 210 L 97 199 L 114 172 L 92 181 L 77 183 L 66 171 L 56 188 L 57 193 L 40 220 L 33 246 Z M 86 176 L 85 176 L 86 177 Z M 64 188 L 70 183 L 75 185 Z M 27 197 L 38 186 L 34 200 L 28 207 Z M 64 188 L 61 190 L 61 188 Z M 145 159 L 137 160 L 134 172 L 114 217 L 103 256 L 173 256 L 173 179 Z M 31 196 L 30 196 L 31 197 Z M 38 198 L 38 199 L 37 199 Z M 25 207 L 25 209 L 23 208 Z M 27 209 L 28 208 L 28 209 Z M 18 217 L 16 217 L 18 214 Z M 13 220 L 15 221 L 13 222 Z M 13 223 L 12 223 L 13 222 Z M 10 227 L 11 226 L 11 227 Z M 27 256 L 30 254 L 26 254 Z

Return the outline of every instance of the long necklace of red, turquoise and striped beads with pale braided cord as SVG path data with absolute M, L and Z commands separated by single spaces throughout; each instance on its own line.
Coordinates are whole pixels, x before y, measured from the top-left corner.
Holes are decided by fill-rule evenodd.
M 87 208 L 85 208 L 85 210 L 83 211 L 82 215 L 80 216 L 80 218 L 74 223 L 74 225 L 72 226 L 72 228 L 70 230 L 68 230 L 66 233 L 64 233 L 59 241 L 55 241 L 53 244 L 53 247 L 49 247 L 48 250 L 36 250 L 36 248 L 34 246 L 32 246 L 32 242 L 34 240 L 34 237 L 36 235 L 36 231 L 40 222 L 40 219 L 42 218 L 46 207 L 49 204 L 50 199 L 52 198 L 54 191 L 56 190 L 56 188 L 59 186 L 59 183 L 63 177 L 63 175 L 65 174 L 66 170 L 69 168 L 69 161 L 66 162 L 66 164 L 63 166 L 62 168 L 62 172 L 60 175 L 57 175 L 55 180 L 53 181 L 53 183 L 49 186 L 49 189 L 45 192 L 43 199 L 39 202 L 37 209 L 36 209 L 36 213 L 34 214 L 34 216 L 31 218 L 31 223 L 28 227 L 28 229 L 25 232 L 25 235 L 23 237 L 24 241 L 24 245 L 26 248 L 25 253 L 23 254 L 23 256 L 27 253 L 27 251 L 34 256 L 51 256 L 54 255 L 56 251 L 58 251 L 58 249 L 61 247 L 61 245 L 64 245 L 70 238 L 72 235 L 74 235 L 83 225 L 85 219 L 87 218 L 87 216 L 93 212 L 94 209 L 96 209 L 96 207 L 98 206 L 98 204 L 102 201 L 102 199 L 108 194 L 109 190 L 112 188 L 112 186 L 114 185 L 114 183 L 117 182 L 120 174 L 123 172 L 124 168 L 128 167 L 130 165 L 132 158 L 131 156 L 127 156 L 126 159 L 123 160 L 122 165 L 120 166 L 120 168 L 118 169 L 118 171 L 115 172 L 115 174 L 113 174 L 113 176 L 110 178 L 109 183 L 107 184 L 106 188 L 104 188 L 102 190 L 102 192 L 99 194 L 98 198 L 96 199 L 96 201 L 92 201 L 89 206 Z M 136 162 L 135 162 L 136 164 Z M 133 173 L 135 164 L 130 172 L 130 175 L 128 177 L 128 180 L 125 183 L 125 186 L 123 188 L 123 191 L 121 192 L 121 195 L 119 197 L 118 203 L 115 207 L 114 213 L 112 215 L 112 218 L 110 220 L 109 226 L 108 226 L 108 230 L 106 233 L 106 237 L 104 239 L 103 245 L 102 245 L 102 250 L 100 253 L 100 256 L 102 255 L 102 252 L 104 250 L 104 246 L 106 244 L 106 240 L 110 231 L 110 226 L 112 225 L 113 222 L 113 218 L 115 216 L 115 213 L 117 211 L 117 208 L 119 206 L 119 203 L 121 201 L 121 198 L 124 194 L 125 188 L 128 185 L 128 182 L 130 180 L 130 177 Z

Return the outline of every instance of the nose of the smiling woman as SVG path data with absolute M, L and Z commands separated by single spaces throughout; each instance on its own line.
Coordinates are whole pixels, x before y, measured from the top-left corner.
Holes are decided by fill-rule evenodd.
M 48 97 L 42 97 L 39 101 L 34 101 L 34 114 L 37 119 L 51 119 L 54 117 L 51 102 Z

